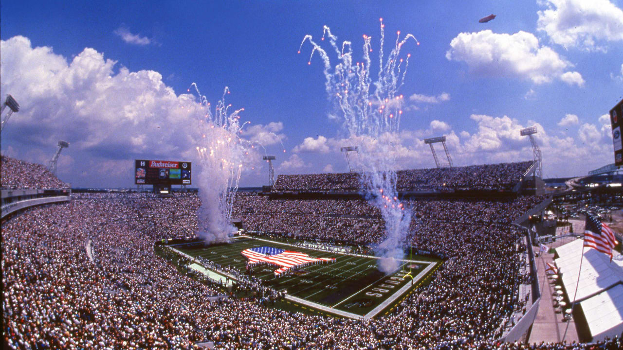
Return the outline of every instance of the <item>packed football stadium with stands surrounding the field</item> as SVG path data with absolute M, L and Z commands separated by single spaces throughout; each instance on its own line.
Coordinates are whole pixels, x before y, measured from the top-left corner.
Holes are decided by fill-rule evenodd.
M 517 188 L 530 168 L 531 161 L 402 172 L 401 194 L 417 213 L 404 242 L 412 252 L 400 271 L 381 274 L 379 287 L 371 247 L 383 223 L 378 209 L 354 196 L 358 174 L 280 175 L 270 191 L 239 191 L 233 217 L 242 234 L 206 245 L 194 234 L 196 192 L 72 193 L 43 166 L 3 157 L 5 345 L 620 348 L 616 337 L 523 343 L 535 305 L 549 298 L 535 278 L 526 228 L 551 197 Z M 30 204 L 5 215 L 6 191 Z M 336 262 L 283 278 L 270 266 L 245 272 L 240 252 L 259 245 Z M 404 278 L 409 270 L 412 281 Z M 362 297 L 365 285 L 376 292 Z

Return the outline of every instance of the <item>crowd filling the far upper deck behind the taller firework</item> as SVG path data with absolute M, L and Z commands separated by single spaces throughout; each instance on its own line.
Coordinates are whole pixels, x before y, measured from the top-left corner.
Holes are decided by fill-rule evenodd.
M 520 181 L 532 162 L 396 171 L 398 191 L 504 190 Z M 359 191 L 358 173 L 279 175 L 272 191 Z

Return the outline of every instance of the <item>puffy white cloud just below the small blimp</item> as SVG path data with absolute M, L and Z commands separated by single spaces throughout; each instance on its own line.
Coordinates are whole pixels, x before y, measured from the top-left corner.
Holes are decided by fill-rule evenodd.
M 579 83 L 581 79 L 579 73 L 564 75 L 573 65 L 524 31 L 497 34 L 487 29 L 460 33 L 450 42 L 445 57 L 463 61 L 471 72 L 485 76 L 515 77 L 535 84 L 549 83 L 555 78 L 566 83 Z

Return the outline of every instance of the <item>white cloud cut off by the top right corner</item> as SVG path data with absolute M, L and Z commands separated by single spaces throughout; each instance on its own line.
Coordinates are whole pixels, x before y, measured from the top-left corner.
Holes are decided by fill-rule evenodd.
M 607 49 L 623 41 L 623 11 L 608 0 L 540 0 L 537 29 L 552 42 L 583 50 Z

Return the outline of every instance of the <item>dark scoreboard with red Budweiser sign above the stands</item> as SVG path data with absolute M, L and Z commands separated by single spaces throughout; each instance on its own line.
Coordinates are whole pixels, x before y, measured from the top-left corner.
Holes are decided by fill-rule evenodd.
M 190 185 L 191 162 L 135 160 L 137 185 Z

